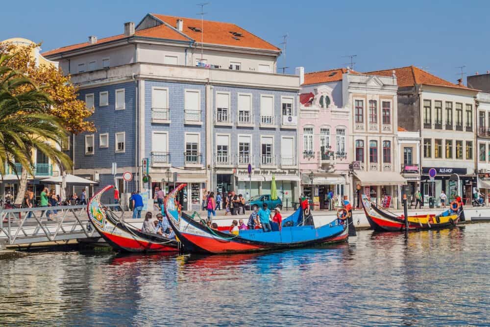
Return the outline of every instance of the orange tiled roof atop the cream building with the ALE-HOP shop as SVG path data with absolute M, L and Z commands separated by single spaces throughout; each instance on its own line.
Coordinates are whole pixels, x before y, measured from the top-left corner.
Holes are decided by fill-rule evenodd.
M 395 71 L 396 80 L 399 87 L 414 86 L 415 84 L 424 84 L 424 85 L 446 86 L 446 87 L 455 87 L 460 89 L 468 89 L 464 85 L 453 84 L 445 79 L 442 79 L 441 77 L 432 75 L 415 66 L 386 69 L 382 71 L 368 72 L 366 74 L 392 76 L 393 71 Z

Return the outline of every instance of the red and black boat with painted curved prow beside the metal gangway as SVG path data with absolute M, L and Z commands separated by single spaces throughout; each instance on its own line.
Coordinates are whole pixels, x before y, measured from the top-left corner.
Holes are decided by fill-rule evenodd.
M 125 223 L 124 212 L 121 217 L 102 204 L 104 192 L 114 186 L 108 185 L 100 190 L 87 204 L 89 220 L 100 236 L 116 251 L 124 252 L 177 252 L 178 242 L 158 234 L 144 233 L 139 228 Z

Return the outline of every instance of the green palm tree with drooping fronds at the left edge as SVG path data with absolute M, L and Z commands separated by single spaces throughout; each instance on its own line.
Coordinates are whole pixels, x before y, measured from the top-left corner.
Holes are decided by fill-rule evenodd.
M 67 133 L 61 121 L 49 114 L 53 101 L 22 74 L 5 66 L 11 55 L 0 56 L 0 175 L 9 166 L 17 176 L 15 163 L 23 167 L 15 204 L 21 204 L 28 174 L 32 175 L 32 149 L 44 153 L 65 168 L 72 161 L 61 149 Z M 58 145 L 58 147 L 56 147 Z

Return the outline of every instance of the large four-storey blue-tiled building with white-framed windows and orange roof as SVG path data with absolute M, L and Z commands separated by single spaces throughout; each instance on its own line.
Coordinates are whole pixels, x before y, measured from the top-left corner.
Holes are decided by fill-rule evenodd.
M 186 183 L 184 210 L 199 209 L 208 190 L 267 194 L 274 175 L 291 201 L 299 77 L 275 74 L 280 53 L 234 24 L 201 30 L 200 20 L 153 14 L 121 35 L 48 51 L 94 109 L 97 133 L 73 137 L 75 174 L 150 197 Z

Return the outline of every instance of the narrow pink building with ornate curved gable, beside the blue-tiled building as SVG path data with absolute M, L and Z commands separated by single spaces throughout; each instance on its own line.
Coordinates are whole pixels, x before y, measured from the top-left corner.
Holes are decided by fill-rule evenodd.
M 302 69 L 302 68 L 300 68 Z M 349 195 L 348 108 L 343 106 L 342 76 L 346 69 L 304 74 L 300 80 L 299 165 L 302 192 L 320 209 L 329 206 L 328 194 L 339 200 Z M 302 71 L 298 75 L 303 76 Z

